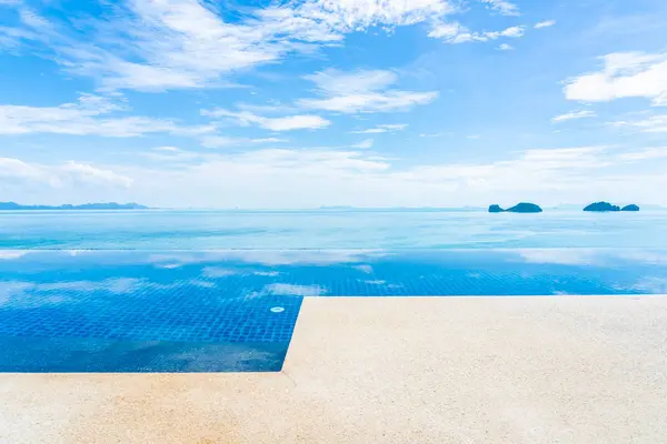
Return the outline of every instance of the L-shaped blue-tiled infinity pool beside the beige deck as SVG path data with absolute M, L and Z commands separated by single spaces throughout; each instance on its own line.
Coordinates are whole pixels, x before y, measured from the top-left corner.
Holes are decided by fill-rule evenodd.
M 0 371 L 279 371 L 307 296 L 667 293 L 667 250 L 0 251 Z

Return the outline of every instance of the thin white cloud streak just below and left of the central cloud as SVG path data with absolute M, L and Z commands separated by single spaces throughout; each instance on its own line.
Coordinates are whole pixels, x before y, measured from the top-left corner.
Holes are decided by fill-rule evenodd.
M 210 118 L 231 118 L 240 125 L 257 124 L 271 131 L 318 130 L 327 128 L 331 121 L 315 114 L 298 114 L 282 118 L 266 118 L 250 111 L 228 111 L 221 108 L 202 110 Z

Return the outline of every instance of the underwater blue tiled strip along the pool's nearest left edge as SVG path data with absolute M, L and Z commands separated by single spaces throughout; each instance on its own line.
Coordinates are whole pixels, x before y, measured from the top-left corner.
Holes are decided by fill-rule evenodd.
M 279 372 L 288 346 L 0 336 L 0 372 Z

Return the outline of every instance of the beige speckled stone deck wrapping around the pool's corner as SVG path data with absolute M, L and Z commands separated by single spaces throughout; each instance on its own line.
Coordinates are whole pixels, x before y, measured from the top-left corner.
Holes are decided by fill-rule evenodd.
M 0 374 L 0 443 L 657 443 L 667 297 L 306 297 L 280 373 Z

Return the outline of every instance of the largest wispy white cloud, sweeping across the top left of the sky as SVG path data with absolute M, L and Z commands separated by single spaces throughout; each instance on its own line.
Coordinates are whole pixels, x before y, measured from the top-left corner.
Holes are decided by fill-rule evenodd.
M 0 44 L 50 47 L 67 71 L 109 89 L 222 87 L 228 74 L 313 52 L 349 32 L 390 30 L 455 10 L 448 0 L 306 0 L 232 10 L 240 19 L 225 20 L 198 0 L 127 1 L 115 2 L 104 18 L 79 14 L 77 22 L 94 31 L 86 34 L 69 21 L 24 11 L 22 27 L 0 29 Z

